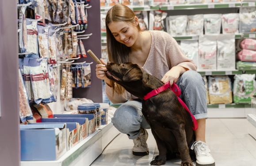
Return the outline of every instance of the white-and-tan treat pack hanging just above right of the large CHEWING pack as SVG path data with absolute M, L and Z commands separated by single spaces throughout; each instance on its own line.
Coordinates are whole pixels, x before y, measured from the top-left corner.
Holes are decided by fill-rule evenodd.
M 48 41 L 48 32 L 49 28 L 44 26 L 38 26 L 38 45 L 39 45 L 39 54 L 41 58 L 50 58 L 49 56 L 49 41 Z

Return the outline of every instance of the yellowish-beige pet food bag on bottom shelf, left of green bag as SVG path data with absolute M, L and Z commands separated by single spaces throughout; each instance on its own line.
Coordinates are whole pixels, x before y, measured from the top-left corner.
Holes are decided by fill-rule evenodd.
M 208 77 L 210 104 L 232 103 L 232 86 L 228 76 Z

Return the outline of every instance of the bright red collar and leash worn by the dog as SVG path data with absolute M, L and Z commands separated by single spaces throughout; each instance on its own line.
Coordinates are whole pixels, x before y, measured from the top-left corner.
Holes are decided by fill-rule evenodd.
M 168 81 L 167 83 L 165 83 L 163 86 L 157 88 L 157 89 L 154 89 L 153 91 L 149 92 L 146 96 L 143 97 L 144 100 L 148 100 L 149 98 L 153 97 L 153 96 L 156 96 L 158 93 L 160 92 L 163 92 L 164 90 L 166 89 L 171 89 L 172 92 L 174 92 L 178 98 L 178 100 L 180 101 L 181 105 L 186 109 L 187 112 L 189 112 L 189 114 L 191 115 L 191 118 L 193 120 L 193 127 L 192 129 L 193 130 L 196 130 L 198 128 L 198 124 L 197 124 L 197 121 L 194 117 L 193 114 L 191 114 L 191 112 L 189 111 L 188 107 L 186 106 L 186 104 L 180 99 L 180 94 L 181 94 L 181 91 L 180 91 L 180 88 L 178 87 L 178 85 L 176 85 L 174 82 L 172 84 L 172 86 L 170 85 L 170 82 Z M 176 91 L 177 90 L 177 91 Z

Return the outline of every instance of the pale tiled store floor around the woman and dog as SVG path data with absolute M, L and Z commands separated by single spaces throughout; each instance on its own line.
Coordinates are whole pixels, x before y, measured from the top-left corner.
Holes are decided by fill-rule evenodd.
M 149 155 L 133 155 L 133 140 L 119 134 L 91 166 L 149 166 L 158 149 L 151 130 L 147 131 Z M 247 133 L 246 118 L 207 119 L 206 141 L 216 166 L 256 166 L 256 140 Z M 180 163 L 180 159 L 173 159 L 165 166 L 180 166 Z

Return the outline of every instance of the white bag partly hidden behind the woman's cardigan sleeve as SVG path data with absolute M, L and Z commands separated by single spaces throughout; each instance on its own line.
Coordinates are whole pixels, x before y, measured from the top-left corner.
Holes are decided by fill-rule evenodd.
M 180 41 L 180 48 L 188 58 L 192 59 L 199 66 L 198 41 Z

